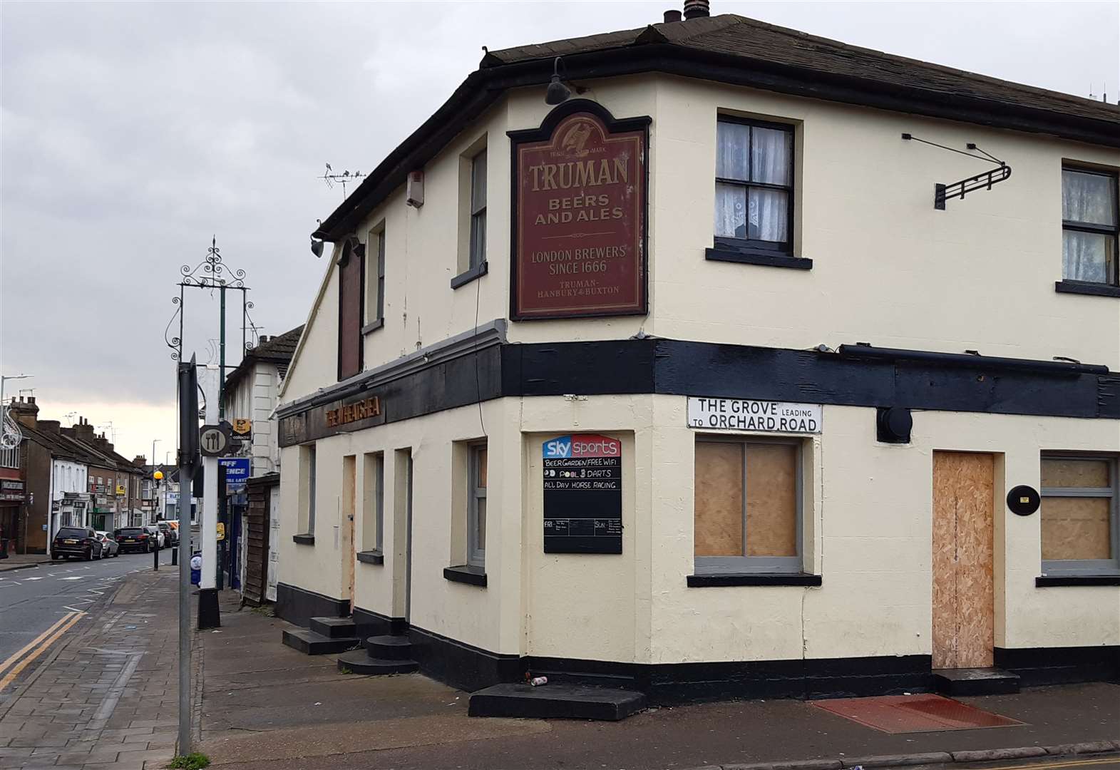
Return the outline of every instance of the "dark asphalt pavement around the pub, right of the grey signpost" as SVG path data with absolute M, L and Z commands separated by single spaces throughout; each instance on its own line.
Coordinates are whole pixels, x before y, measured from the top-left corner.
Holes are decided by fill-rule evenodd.
M 1120 686 L 1105 683 L 960 698 L 1024 724 L 936 733 L 881 733 L 800 701 L 650 709 L 615 723 L 474 718 L 466 715 L 467 693 L 419 674 L 340 674 L 334 656 L 282 646 L 282 630 L 292 628 L 282 620 L 235 611 L 230 597 L 222 610 L 222 632 L 203 638 L 202 715 L 203 751 L 222 770 L 277 763 L 333 770 L 836 770 L 886 755 L 895 767 L 914 764 L 918 754 L 961 768 L 1009 748 L 1026 749 L 1008 754 L 1016 766 L 1045 754 L 1042 746 L 1065 746 L 1062 754 L 1074 753 L 1075 743 L 1120 749 L 1111 743 L 1120 740 Z M 865 767 L 874 764 L 881 763 Z

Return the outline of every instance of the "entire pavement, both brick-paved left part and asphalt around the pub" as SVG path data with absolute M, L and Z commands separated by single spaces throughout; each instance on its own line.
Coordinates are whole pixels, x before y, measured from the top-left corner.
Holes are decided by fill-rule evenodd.
M 166 764 L 175 591 L 172 569 L 127 575 L 65 630 L 0 704 L 0 768 Z M 475 718 L 466 693 L 419 674 L 342 674 L 333 656 L 281 644 L 290 627 L 267 610 L 241 609 L 231 592 L 221 609 L 221 629 L 193 636 L 195 749 L 221 770 L 961 770 L 999 759 L 1004 770 L 1120 770 L 1116 684 L 961 698 L 1024 724 L 932 733 L 881 733 L 799 701 L 657 708 L 616 723 Z

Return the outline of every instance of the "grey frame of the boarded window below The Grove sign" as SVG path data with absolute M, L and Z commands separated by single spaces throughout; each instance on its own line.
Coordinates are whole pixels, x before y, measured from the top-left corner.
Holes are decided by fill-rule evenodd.
M 743 447 L 741 489 L 743 489 L 743 550 L 747 550 L 747 448 L 750 446 L 792 446 L 796 451 L 794 455 L 794 518 L 796 526 L 795 541 L 797 553 L 795 556 L 697 556 L 696 555 L 696 446 L 699 444 L 738 444 Z M 802 438 L 769 437 L 755 435 L 722 435 L 699 433 L 693 439 L 693 503 L 692 503 L 692 532 L 693 553 L 692 569 L 697 575 L 749 575 L 749 574 L 772 574 L 772 575 L 800 575 L 805 570 L 805 545 L 804 545 L 804 460 L 805 442 Z

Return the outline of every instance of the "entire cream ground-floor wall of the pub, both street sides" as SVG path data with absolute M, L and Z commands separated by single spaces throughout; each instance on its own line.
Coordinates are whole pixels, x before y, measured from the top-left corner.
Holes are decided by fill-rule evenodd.
M 489 434 L 485 588 L 450 583 L 452 442 L 479 437 L 464 407 L 318 443 L 315 546 L 296 546 L 281 480 L 281 581 L 342 597 L 338 490 L 343 457 L 385 452 L 385 536 L 398 540 L 393 449 L 414 470 L 413 624 L 504 653 L 637 662 L 930 655 L 933 452 L 991 452 L 996 479 L 998 647 L 1120 643 L 1120 588 L 1035 587 L 1039 517 L 1004 504 L 1015 484 L 1039 484 L 1046 449 L 1120 451 L 1113 423 L 917 411 L 913 443 L 875 440 L 875 410 L 824 407 L 823 433 L 805 439 L 804 558 L 821 587 L 688 587 L 693 572 L 693 452 L 684 397 L 502 399 L 484 405 Z M 623 554 L 547 555 L 540 445 L 573 432 L 605 433 L 624 451 Z M 283 451 L 286 467 L 295 447 Z M 291 457 L 289 460 L 289 456 Z M 360 474 L 358 498 L 366 483 Z M 358 517 L 357 539 L 362 538 Z M 358 564 L 355 604 L 403 614 L 393 596 L 403 554 Z M 1005 566 L 1006 565 L 1006 566 Z

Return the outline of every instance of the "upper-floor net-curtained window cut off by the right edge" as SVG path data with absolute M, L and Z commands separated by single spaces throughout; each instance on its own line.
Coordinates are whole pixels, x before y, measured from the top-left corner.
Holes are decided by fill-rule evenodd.
M 1117 286 L 1117 176 L 1062 169 L 1062 278 Z

